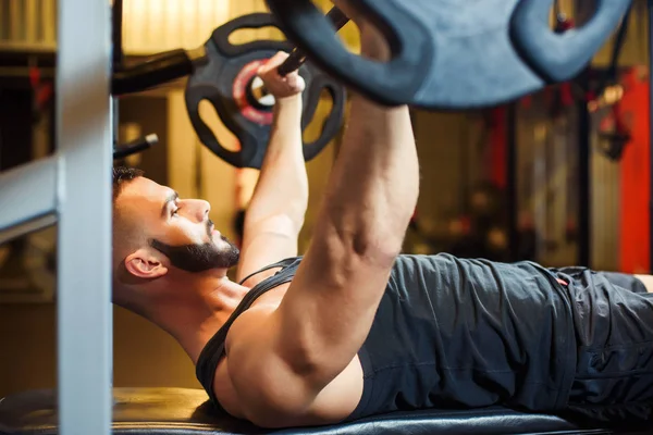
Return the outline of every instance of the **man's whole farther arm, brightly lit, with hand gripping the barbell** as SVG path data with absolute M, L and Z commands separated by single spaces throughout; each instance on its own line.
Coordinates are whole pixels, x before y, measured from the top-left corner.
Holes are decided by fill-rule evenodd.
M 280 52 L 259 71 L 275 98 L 274 117 L 259 181 L 245 215 L 238 281 L 270 263 L 297 254 L 297 237 L 308 207 L 301 141 L 305 85 L 296 72 L 285 77 L 276 73 L 287 57 Z

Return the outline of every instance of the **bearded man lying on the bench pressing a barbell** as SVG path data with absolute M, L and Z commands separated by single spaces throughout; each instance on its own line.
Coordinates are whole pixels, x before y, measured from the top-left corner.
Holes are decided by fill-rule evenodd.
M 355 18 L 366 55 L 384 59 Z M 649 277 L 399 254 L 419 184 L 405 107 L 353 97 L 311 246 L 296 258 L 303 83 L 274 73 L 283 59 L 261 71 L 278 103 L 241 259 L 209 203 L 114 171 L 114 302 L 176 338 L 218 407 L 268 427 L 424 408 L 648 409 Z M 235 265 L 239 284 L 226 277 Z

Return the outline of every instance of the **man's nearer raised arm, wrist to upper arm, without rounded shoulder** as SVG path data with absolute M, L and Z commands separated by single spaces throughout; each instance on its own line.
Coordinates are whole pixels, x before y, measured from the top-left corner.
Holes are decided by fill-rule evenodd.
M 373 39 L 365 49 L 375 53 Z M 355 96 L 350 113 L 312 246 L 276 316 L 281 355 L 316 390 L 367 337 L 419 191 L 408 109 Z

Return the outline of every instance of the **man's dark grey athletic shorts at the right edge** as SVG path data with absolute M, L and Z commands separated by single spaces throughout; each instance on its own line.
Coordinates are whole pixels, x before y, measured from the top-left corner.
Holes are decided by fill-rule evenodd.
M 592 419 L 653 418 L 653 294 L 633 277 L 584 268 L 565 281 L 577 336 L 569 410 Z

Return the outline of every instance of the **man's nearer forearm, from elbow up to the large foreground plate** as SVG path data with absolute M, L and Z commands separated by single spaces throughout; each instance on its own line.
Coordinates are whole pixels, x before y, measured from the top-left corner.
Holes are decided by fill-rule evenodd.
M 362 50 L 370 58 L 389 55 L 373 37 L 362 37 Z M 353 97 L 330 187 L 321 225 L 338 228 L 340 241 L 357 251 L 401 250 L 419 192 L 419 164 L 406 107 L 386 108 Z

